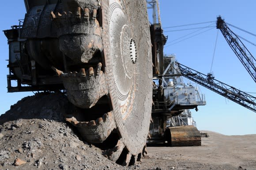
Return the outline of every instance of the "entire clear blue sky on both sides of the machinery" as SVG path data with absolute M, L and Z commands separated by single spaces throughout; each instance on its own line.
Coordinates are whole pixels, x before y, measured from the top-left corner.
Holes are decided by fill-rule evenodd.
M 242 3 L 243 2 L 243 3 Z M 244 30 L 256 33 L 256 1 L 255 0 L 161 0 L 162 26 L 178 26 L 184 24 L 215 21 L 222 15 L 226 22 Z M 25 15 L 23 0 L 8 0 L 0 6 L 0 30 L 7 30 L 11 25 L 19 24 L 18 19 Z M 188 26 L 215 26 L 215 23 Z M 166 29 L 178 30 L 181 28 Z M 249 41 L 256 43 L 256 38 L 240 30 L 230 27 L 233 32 Z M 206 29 L 205 29 L 206 30 Z M 166 32 L 168 42 L 182 37 L 195 30 Z M 202 30 L 203 31 L 203 30 Z M 202 32 L 199 31 L 199 32 Z M 199 33 L 198 32 L 198 33 Z M 166 54 L 175 53 L 177 60 L 204 74 L 210 72 L 214 52 L 217 29 L 213 28 L 186 41 L 173 44 L 165 48 Z M 172 43 L 169 43 L 172 44 Z M 256 55 L 255 46 L 245 43 L 246 47 Z M 4 33 L 0 33 L 0 114 L 9 110 L 10 106 L 32 92 L 7 93 L 6 75 L 8 74 L 8 44 Z M 219 32 L 215 60 L 212 71 L 215 78 L 232 85 L 245 92 L 256 92 L 256 84 L 233 53 L 224 37 Z M 184 79 L 185 81 L 188 81 Z M 206 95 L 207 105 L 199 107 L 199 111 L 192 110 L 193 117 L 200 130 L 211 130 L 226 135 L 256 134 L 256 113 L 250 111 L 226 98 L 199 86 Z M 253 94 L 255 96 L 255 94 Z

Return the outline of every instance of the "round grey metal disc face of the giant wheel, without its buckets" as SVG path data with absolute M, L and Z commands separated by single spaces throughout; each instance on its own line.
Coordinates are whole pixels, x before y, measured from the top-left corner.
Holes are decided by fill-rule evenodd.
M 105 2 L 107 3 L 107 2 Z M 109 0 L 103 29 L 106 77 L 120 141 L 138 155 L 146 143 L 151 118 L 151 47 L 143 1 Z M 109 45 L 107 45 L 109 44 Z

